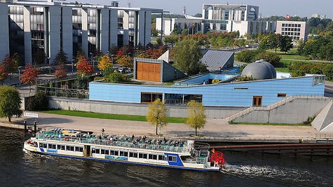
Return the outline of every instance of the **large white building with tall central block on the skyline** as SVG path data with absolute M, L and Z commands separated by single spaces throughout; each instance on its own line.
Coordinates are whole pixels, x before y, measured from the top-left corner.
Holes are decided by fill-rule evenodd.
M 276 32 L 276 22 L 259 21 L 259 7 L 250 5 L 203 4 L 203 17 L 195 18 L 187 15 L 184 18 L 156 19 L 156 29 L 169 35 L 173 29 L 187 29 L 189 34 L 196 31 L 206 32 L 239 32 L 258 34 Z M 201 25 L 201 26 L 197 26 Z M 200 29 L 199 29 L 200 28 Z

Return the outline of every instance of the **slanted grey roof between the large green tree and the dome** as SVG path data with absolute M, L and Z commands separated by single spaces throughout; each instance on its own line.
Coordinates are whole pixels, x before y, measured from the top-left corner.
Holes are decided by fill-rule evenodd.
M 206 64 L 209 70 L 217 70 L 219 67 L 229 68 L 230 65 L 225 67 L 225 64 L 230 63 L 230 61 L 233 63 L 233 52 L 224 50 L 208 50 L 201 59 L 201 62 Z

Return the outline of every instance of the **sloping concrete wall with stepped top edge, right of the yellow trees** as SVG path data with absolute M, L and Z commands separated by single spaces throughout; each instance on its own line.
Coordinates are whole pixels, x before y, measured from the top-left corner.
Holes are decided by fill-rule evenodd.
M 233 121 L 243 123 L 302 123 L 308 117 L 318 115 L 329 101 L 330 99 L 327 97 L 293 99 L 291 102 L 286 102 L 274 109 L 257 107 L 254 111 Z

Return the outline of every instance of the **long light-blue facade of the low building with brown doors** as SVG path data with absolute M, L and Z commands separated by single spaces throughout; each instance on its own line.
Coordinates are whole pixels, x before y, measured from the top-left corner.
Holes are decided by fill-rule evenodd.
M 160 98 L 167 104 L 186 104 L 191 99 L 204 106 L 269 106 L 292 95 L 323 96 L 325 76 L 279 78 L 203 85 L 130 85 L 89 83 L 89 99 L 111 102 L 150 103 Z

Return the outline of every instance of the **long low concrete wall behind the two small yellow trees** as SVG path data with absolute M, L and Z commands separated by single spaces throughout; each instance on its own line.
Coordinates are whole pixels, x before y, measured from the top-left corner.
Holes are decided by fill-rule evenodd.
M 97 113 L 114 113 L 146 116 L 148 104 L 132 104 L 119 102 L 93 101 L 89 99 L 70 99 L 64 97 L 50 97 L 50 109 L 65 109 L 76 111 L 91 111 Z M 187 107 L 185 105 L 168 106 L 168 116 L 186 117 Z M 245 107 L 207 106 L 205 107 L 207 118 L 226 118 L 233 113 L 242 111 Z

